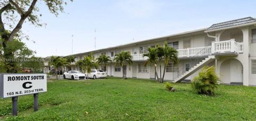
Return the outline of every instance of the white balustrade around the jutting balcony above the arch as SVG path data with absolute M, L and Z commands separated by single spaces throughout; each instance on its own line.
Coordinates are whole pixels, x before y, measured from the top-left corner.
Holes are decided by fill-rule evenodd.
M 243 43 L 238 43 L 235 39 L 227 41 L 212 42 L 212 52 L 215 53 L 243 53 Z

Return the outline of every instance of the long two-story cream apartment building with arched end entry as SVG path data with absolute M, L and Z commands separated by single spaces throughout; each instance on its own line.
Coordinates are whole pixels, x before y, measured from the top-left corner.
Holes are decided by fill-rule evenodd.
M 165 80 L 190 80 L 203 66 L 214 65 L 222 83 L 256 85 L 256 19 L 251 17 L 72 56 L 76 57 L 76 61 L 90 53 L 93 53 L 95 58 L 106 54 L 113 59 L 120 51 L 130 51 L 133 64 L 126 67 L 127 77 L 154 79 L 154 67 L 145 66 L 147 57 L 142 55 L 147 53 L 147 48 L 163 45 L 164 41 L 178 50 L 180 59 L 179 64 L 170 63 L 167 66 Z M 121 67 L 114 64 L 107 67 L 109 76 L 121 77 L 121 71 Z M 159 67 L 157 71 L 159 74 Z

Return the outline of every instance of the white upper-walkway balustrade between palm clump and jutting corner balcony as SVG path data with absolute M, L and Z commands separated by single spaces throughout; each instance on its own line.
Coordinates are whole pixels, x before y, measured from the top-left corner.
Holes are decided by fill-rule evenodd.
M 179 57 L 191 57 L 197 54 L 200 55 L 211 55 L 211 46 L 207 47 L 197 47 L 197 48 L 188 48 L 188 49 L 178 49 Z

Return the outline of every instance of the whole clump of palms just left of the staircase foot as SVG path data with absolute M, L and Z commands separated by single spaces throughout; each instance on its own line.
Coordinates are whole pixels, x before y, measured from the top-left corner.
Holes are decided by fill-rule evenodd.
M 153 64 L 155 66 L 155 73 L 158 82 L 163 83 L 164 75 L 166 71 L 166 66 L 169 65 L 170 62 L 177 64 L 179 62 L 178 59 L 178 51 L 173 47 L 169 47 L 167 42 L 164 42 L 164 46 L 158 46 L 156 48 L 150 47 L 148 48 L 148 53 L 143 54 L 143 57 L 148 57 L 145 65 Z M 164 62 L 164 70 L 162 75 L 162 66 L 161 63 Z M 160 77 L 157 74 L 156 67 L 159 65 Z

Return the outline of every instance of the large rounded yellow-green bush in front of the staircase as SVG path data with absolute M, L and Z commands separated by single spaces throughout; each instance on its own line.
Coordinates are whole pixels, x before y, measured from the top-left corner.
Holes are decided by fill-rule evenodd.
M 214 67 L 205 66 L 198 76 L 195 76 L 191 82 L 192 88 L 198 94 L 214 95 L 214 89 L 217 88 L 219 77 L 214 71 Z

